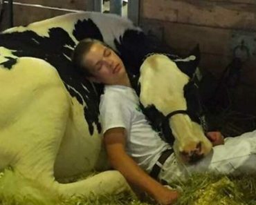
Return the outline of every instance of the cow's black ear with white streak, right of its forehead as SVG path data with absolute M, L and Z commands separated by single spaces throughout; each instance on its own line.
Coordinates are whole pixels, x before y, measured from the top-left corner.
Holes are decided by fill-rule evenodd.
M 197 44 L 188 57 L 184 59 L 176 59 L 174 61 L 182 72 L 192 78 L 196 68 L 199 66 L 200 57 L 199 44 Z

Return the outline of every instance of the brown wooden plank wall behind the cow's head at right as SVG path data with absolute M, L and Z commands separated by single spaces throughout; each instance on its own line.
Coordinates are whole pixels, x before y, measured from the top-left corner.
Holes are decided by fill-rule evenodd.
M 199 43 L 201 68 L 218 78 L 235 56 L 244 59 L 233 108 L 256 115 L 255 0 L 141 0 L 140 26 L 183 55 Z

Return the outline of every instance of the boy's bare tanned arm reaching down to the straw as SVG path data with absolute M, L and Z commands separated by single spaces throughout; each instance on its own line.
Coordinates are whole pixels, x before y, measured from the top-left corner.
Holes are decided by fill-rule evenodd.
M 104 144 L 111 166 L 119 170 L 129 184 L 139 187 L 154 197 L 158 203 L 172 204 L 178 193 L 156 182 L 125 153 L 125 136 L 125 128 L 111 128 L 104 133 Z

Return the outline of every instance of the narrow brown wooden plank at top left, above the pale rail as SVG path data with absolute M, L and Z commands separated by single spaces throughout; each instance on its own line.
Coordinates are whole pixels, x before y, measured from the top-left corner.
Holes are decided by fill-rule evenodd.
M 86 10 L 86 0 L 14 0 L 14 2 L 19 3 L 31 3 L 39 4 L 43 6 L 52 6 L 57 8 L 68 8 L 73 10 Z

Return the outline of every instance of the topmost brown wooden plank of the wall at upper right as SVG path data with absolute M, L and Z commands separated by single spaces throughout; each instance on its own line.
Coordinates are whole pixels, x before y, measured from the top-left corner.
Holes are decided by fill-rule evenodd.
M 256 31 L 256 5 L 221 1 L 147 0 L 142 17 L 199 26 Z

